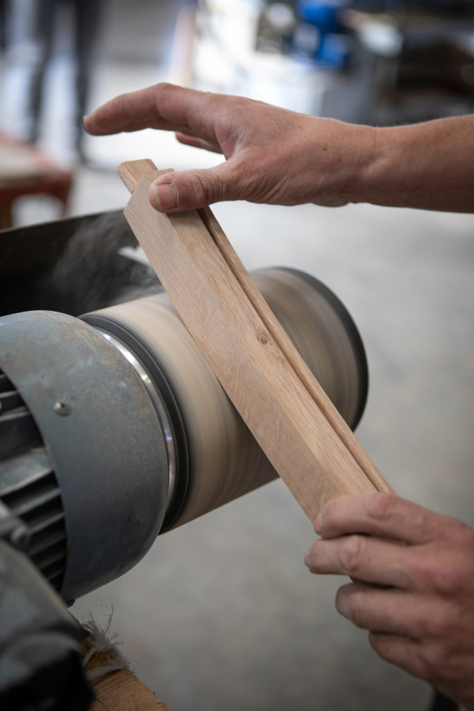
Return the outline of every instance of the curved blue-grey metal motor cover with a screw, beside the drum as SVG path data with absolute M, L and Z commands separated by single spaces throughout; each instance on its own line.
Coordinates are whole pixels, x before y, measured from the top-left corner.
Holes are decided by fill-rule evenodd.
M 94 328 L 52 311 L 0 319 L 0 368 L 31 411 L 63 496 L 73 599 L 129 570 L 158 534 L 168 459 L 138 375 Z

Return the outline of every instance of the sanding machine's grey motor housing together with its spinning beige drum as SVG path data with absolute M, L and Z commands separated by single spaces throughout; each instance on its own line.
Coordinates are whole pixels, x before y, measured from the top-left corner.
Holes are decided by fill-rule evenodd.
M 303 272 L 252 277 L 354 429 L 367 365 L 348 311 Z M 0 498 L 65 599 L 129 570 L 158 533 L 277 476 L 166 294 L 81 320 L 4 316 L 0 333 Z

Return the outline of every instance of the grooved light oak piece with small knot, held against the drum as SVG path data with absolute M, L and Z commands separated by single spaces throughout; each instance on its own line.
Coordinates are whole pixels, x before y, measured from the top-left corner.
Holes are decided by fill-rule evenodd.
M 140 170 L 144 175 L 134 187 Z M 178 313 L 239 414 L 313 520 L 342 493 L 392 491 L 245 271 L 209 208 L 151 208 L 149 161 L 119 175 L 125 216 Z

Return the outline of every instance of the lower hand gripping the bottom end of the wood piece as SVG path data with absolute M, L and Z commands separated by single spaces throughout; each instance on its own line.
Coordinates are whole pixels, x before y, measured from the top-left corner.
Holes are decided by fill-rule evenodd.
M 348 575 L 336 609 L 385 661 L 474 709 L 474 528 L 387 493 L 318 515 L 305 563 Z

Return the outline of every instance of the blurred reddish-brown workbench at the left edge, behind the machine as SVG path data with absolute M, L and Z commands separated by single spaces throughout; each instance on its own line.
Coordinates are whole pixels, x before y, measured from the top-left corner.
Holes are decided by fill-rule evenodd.
M 0 134 L 0 229 L 12 226 L 13 204 L 26 195 L 58 198 L 66 215 L 72 177 L 35 146 Z

